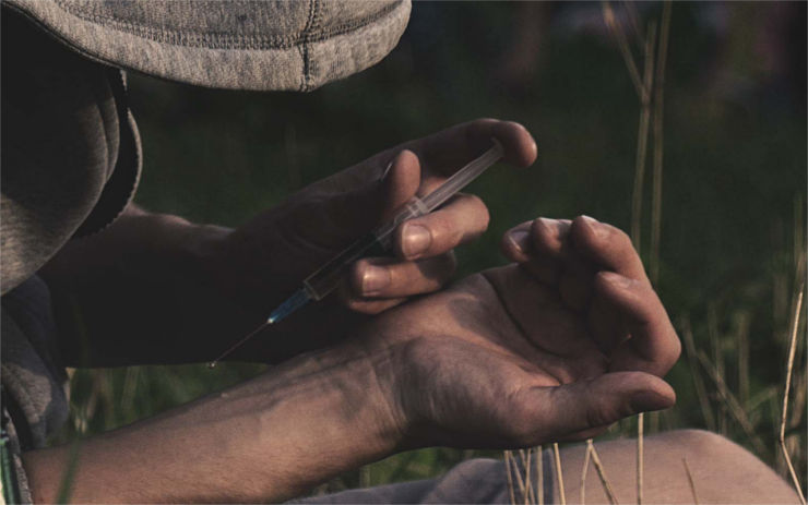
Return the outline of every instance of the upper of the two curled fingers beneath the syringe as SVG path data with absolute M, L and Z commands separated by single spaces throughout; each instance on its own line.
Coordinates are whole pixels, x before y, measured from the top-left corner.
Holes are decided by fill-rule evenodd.
M 489 219 L 478 196 L 458 194 L 444 207 L 402 224 L 395 230 L 393 250 L 409 261 L 443 254 L 483 235 Z

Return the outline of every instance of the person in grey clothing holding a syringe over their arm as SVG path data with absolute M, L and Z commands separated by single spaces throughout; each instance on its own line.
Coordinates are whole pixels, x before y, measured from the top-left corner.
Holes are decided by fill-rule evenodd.
M 511 165 L 536 157 L 523 127 L 472 121 L 380 153 L 238 229 L 197 225 L 131 204 L 139 140 L 121 75 L 107 64 L 199 85 L 307 91 L 382 58 L 408 9 L 4 3 L 2 381 L 21 500 L 56 500 L 75 458 L 76 502 L 280 501 L 400 450 L 583 440 L 673 405 L 661 377 L 679 356 L 676 334 L 625 233 L 592 218 L 520 225 L 503 238 L 513 265 L 403 303 L 444 287 L 451 250 L 485 231 L 485 205 L 460 195 L 400 226 L 394 258 L 357 262 L 340 297 L 233 356 L 277 363 L 270 372 L 88 438 L 75 455 L 44 447 L 66 416 L 62 363 L 206 361 L 491 139 Z M 647 450 L 674 457 L 673 440 L 649 441 Z M 713 462 L 765 471 L 710 435 L 675 440 L 690 454 L 711 448 Z M 705 461 L 693 457 L 699 476 Z M 485 468 L 464 467 L 452 474 L 476 485 L 444 480 L 326 500 L 471 502 L 491 489 L 501 500 L 502 474 L 488 473 L 489 488 Z M 741 476 L 724 480 L 744 484 L 738 496 L 758 496 L 754 481 L 727 474 Z M 792 496 L 764 477 L 760 485 L 774 490 L 767 497 Z M 705 483 L 701 496 L 736 496 L 718 491 Z

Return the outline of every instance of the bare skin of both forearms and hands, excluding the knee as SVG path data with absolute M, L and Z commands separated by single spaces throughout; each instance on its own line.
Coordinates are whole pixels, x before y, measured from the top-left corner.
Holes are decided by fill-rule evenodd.
M 510 164 L 535 159 L 524 128 L 479 120 L 381 153 L 236 230 L 131 208 L 44 272 L 56 306 L 81 312 L 84 332 L 63 342 L 69 362 L 210 359 L 226 330 L 262 321 L 300 278 L 491 136 Z M 83 441 L 72 500 L 281 501 L 401 450 L 579 440 L 674 404 L 661 377 L 678 338 L 630 241 L 608 225 L 522 224 L 503 238 L 513 264 L 401 303 L 445 287 L 451 249 L 487 223 L 479 200 L 460 196 L 400 227 L 394 257 L 358 262 L 340 296 L 237 354 L 277 366 Z M 413 227 L 429 235 L 418 253 Z M 372 267 L 387 285 L 368 289 Z M 37 502 L 55 500 L 70 454 L 23 455 Z

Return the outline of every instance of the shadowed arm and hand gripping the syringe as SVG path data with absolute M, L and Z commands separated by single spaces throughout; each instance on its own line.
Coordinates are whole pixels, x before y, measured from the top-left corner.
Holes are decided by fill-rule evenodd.
M 131 206 L 109 229 L 71 241 L 40 272 L 67 364 L 214 359 L 263 323 L 301 279 L 479 156 L 491 137 L 509 165 L 536 158 L 524 127 L 480 119 L 382 152 L 235 230 Z M 454 274 L 453 248 L 487 226 L 478 197 L 455 196 L 400 226 L 392 257 L 357 262 L 336 294 L 266 328 L 230 358 L 281 362 L 343 340 L 368 315 L 443 287 Z

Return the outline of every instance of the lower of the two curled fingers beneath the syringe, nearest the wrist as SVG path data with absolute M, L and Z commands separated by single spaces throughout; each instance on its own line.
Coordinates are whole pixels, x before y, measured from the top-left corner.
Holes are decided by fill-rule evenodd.
M 449 252 L 418 262 L 366 257 L 350 272 L 353 298 L 401 298 L 439 290 L 454 275 L 458 261 Z

